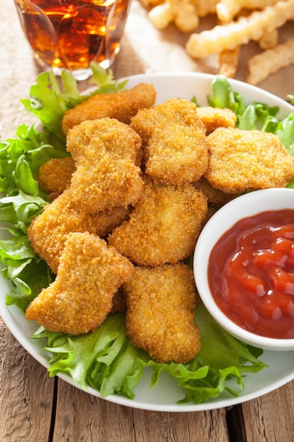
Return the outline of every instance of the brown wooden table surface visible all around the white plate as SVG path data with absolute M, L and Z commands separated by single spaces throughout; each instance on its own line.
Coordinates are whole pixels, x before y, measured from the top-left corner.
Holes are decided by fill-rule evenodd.
M 39 68 L 20 30 L 12 0 L 0 0 L 0 138 L 13 135 L 32 117 L 20 110 Z M 284 35 L 294 36 L 293 21 Z M 121 52 L 113 66 L 116 78 L 145 71 L 216 73 L 216 61 L 192 61 L 185 54 L 186 35 L 172 26 L 154 30 L 138 0 L 133 5 Z M 155 46 L 156 45 L 156 46 Z M 157 47 L 157 51 L 154 51 Z M 237 78 L 256 46 L 242 49 Z M 294 94 L 293 66 L 259 86 L 286 98 Z M 80 83 L 86 88 L 87 82 Z M 1 293 L 4 296 L 4 293 Z M 219 410 L 188 413 L 152 412 L 100 400 L 60 378 L 33 359 L 0 321 L 0 439 L 19 442 L 290 442 L 294 440 L 294 381 L 261 398 Z M 293 367 L 294 369 L 294 367 Z

